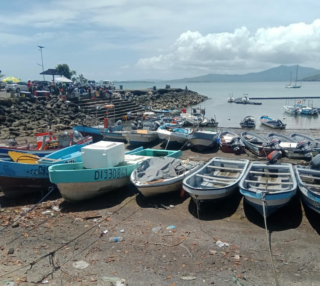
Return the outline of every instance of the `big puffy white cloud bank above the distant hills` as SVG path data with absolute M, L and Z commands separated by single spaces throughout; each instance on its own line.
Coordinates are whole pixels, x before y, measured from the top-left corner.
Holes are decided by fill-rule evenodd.
M 311 24 L 259 28 L 233 33 L 182 33 L 170 52 L 140 58 L 136 66 L 155 70 L 234 71 L 261 64 L 296 64 L 320 60 L 320 19 Z

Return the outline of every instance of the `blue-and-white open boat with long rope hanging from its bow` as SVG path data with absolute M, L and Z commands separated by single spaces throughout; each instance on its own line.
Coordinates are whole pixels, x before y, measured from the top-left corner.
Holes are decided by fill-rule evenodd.
M 239 183 L 239 189 L 244 199 L 262 215 L 264 197 L 268 216 L 290 202 L 297 192 L 297 181 L 291 164 L 252 162 Z

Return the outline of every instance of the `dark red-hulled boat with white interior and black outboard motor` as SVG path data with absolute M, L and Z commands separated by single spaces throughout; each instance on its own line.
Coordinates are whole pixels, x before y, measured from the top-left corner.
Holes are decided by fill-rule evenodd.
M 223 153 L 244 154 L 245 145 L 236 133 L 223 131 L 219 134 L 220 149 Z

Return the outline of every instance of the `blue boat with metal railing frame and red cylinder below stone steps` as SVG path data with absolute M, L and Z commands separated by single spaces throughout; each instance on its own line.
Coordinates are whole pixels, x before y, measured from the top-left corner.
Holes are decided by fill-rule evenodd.
M 105 115 L 104 117 L 104 124 L 99 124 L 99 111 L 102 108 L 106 109 L 106 114 L 108 114 L 109 109 L 114 109 L 115 106 L 113 104 L 107 105 L 93 105 L 88 106 L 88 117 L 87 117 L 87 126 L 76 125 L 72 128 L 73 131 L 80 132 L 83 136 L 92 136 L 93 143 L 97 143 L 103 140 L 103 135 L 101 132 L 108 132 L 108 131 L 121 131 L 123 128 L 122 121 L 118 120 L 115 122 L 115 113 L 113 112 L 113 117 Z M 89 112 L 92 112 L 92 109 L 96 112 L 94 116 L 91 116 Z

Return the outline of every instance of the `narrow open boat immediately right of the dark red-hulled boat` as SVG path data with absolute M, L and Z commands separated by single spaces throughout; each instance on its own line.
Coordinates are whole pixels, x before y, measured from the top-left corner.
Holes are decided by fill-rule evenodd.
M 260 157 L 267 157 L 274 149 L 269 146 L 269 141 L 257 134 L 244 131 L 240 134 L 245 147 Z

